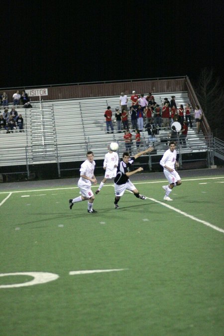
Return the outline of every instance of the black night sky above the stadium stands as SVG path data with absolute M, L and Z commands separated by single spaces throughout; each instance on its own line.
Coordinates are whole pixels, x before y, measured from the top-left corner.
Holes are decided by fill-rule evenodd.
M 0 88 L 223 78 L 223 13 L 219 0 L 6 1 Z

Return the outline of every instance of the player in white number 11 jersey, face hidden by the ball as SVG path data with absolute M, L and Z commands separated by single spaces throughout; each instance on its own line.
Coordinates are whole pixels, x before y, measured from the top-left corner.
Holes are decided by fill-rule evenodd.
M 101 191 L 104 184 L 107 182 L 107 179 L 112 179 L 113 177 L 116 176 L 116 167 L 118 165 L 119 158 L 118 158 L 117 153 L 113 152 L 110 149 L 110 146 L 108 146 L 108 150 L 109 152 L 105 154 L 105 159 L 104 159 L 104 170 L 106 170 L 105 176 L 99 188 L 96 190 L 96 194 L 98 194 Z

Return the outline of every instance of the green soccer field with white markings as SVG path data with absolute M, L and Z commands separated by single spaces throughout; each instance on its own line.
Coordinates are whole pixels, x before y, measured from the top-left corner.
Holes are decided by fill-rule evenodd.
M 224 176 L 131 181 L 0 192 L 1 336 L 223 335 Z

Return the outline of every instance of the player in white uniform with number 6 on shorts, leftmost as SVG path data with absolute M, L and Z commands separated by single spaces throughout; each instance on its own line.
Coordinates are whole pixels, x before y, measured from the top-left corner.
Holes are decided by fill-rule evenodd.
M 97 213 L 96 210 L 93 209 L 93 202 L 95 196 L 91 190 L 92 182 L 97 184 L 97 179 L 94 176 L 94 153 L 89 151 L 87 152 L 87 160 L 81 164 L 80 168 L 80 179 L 78 181 L 78 187 L 80 189 L 81 196 L 76 197 L 74 199 L 69 200 L 69 208 L 72 209 L 74 203 L 81 201 L 88 201 L 88 213 Z

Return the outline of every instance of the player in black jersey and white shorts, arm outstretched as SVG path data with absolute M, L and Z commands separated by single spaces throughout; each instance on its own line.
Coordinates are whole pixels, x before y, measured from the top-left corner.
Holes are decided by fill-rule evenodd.
M 141 155 L 149 153 L 153 150 L 153 147 L 149 147 L 146 150 L 137 153 L 134 156 L 130 157 L 129 152 L 124 152 L 122 155 L 122 161 L 118 163 L 116 177 L 114 178 L 114 191 L 115 191 L 115 199 L 114 199 L 114 207 L 115 209 L 120 209 L 118 206 L 118 202 L 123 196 L 125 190 L 131 191 L 135 197 L 140 198 L 141 200 L 145 200 L 146 197 L 139 194 L 139 191 L 135 188 L 133 183 L 129 180 L 131 175 L 134 175 L 143 170 L 142 167 L 139 167 L 133 171 L 131 171 L 131 164 Z

